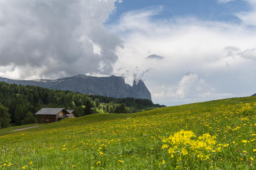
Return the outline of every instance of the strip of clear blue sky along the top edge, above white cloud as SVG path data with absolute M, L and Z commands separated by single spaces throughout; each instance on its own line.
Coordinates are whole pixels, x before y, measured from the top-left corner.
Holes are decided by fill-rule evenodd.
M 217 0 L 123 0 L 116 2 L 116 11 L 110 16 L 108 24 L 118 22 L 122 14 L 152 6 L 163 6 L 156 18 L 166 19 L 174 16 L 193 16 L 202 20 L 241 22 L 235 13 L 248 11 L 251 7 L 242 0 L 218 3 Z

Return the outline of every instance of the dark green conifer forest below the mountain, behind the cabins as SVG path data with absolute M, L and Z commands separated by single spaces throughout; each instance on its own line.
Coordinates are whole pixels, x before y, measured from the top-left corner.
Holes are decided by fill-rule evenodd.
M 160 107 L 165 106 L 148 99 L 117 99 L 0 82 L 0 128 L 37 123 L 34 114 L 41 108 L 69 108 L 84 116 L 99 111 L 135 113 Z

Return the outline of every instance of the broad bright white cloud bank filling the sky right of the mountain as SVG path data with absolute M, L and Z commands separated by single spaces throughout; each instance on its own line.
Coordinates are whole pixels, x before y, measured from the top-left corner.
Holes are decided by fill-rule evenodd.
M 256 72 L 255 63 L 238 55 L 241 51 L 256 47 L 255 28 L 239 23 L 202 21 L 195 17 L 156 19 L 154 16 L 160 10 L 147 8 L 126 13 L 118 24 L 111 27 L 122 35 L 125 46 L 118 49 L 119 61 L 114 67 L 115 74 L 124 73 L 116 71 L 122 65 L 123 70 L 130 71 L 125 76 L 131 83 L 134 73 L 140 74 L 152 68 L 143 79 L 151 91 L 153 102 L 166 105 L 219 99 L 229 94 L 249 96 L 255 93 L 253 86 L 247 87 L 242 83 L 256 83 L 251 79 Z M 145 59 L 149 54 L 164 56 L 164 59 Z M 177 92 L 177 82 L 188 71 L 197 73 L 204 80 L 199 79 L 197 87 L 207 87 L 208 90 L 180 88 Z M 161 85 L 166 88 L 161 88 Z M 218 90 L 212 91 L 212 87 Z

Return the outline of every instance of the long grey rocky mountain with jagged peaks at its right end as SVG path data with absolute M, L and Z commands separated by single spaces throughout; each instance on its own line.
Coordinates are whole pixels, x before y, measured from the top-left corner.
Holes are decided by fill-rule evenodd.
M 17 80 L 0 77 L 0 82 L 18 85 L 36 85 L 56 90 L 70 90 L 86 94 L 110 96 L 116 98 L 134 97 L 136 99 L 149 99 L 151 94 L 142 79 L 137 83 L 134 80 L 133 86 L 126 84 L 123 77 L 93 77 L 79 74 L 73 77 L 60 79 L 39 79 L 39 80 Z

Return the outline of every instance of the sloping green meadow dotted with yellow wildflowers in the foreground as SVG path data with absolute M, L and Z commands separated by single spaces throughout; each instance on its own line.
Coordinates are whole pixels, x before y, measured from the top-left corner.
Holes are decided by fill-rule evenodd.
M 3 130 L 4 170 L 256 168 L 256 96 Z

